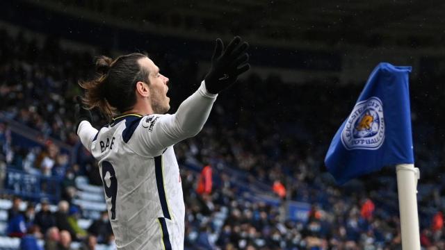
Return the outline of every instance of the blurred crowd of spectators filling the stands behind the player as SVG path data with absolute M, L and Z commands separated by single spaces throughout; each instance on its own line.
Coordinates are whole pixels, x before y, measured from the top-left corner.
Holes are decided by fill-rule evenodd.
M 81 93 L 76 83 L 93 74 L 92 55 L 61 49 L 55 38 L 37 44 L 21 34 L 0 31 L 0 112 L 41 131 L 45 142 L 45 147 L 17 147 L 8 122 L 0 122 L 0 176 L 6 176 L 6 166 L 55 176 L 62 200 L 55 213 L 48 210 L 47 200 L 34 201 L 40 203 L 38 211 L 31 201 L 20 211 L 21 199 L 15 197 L 8 211 L 8 235 L 22 238 L 23 246 L 44 239 L 45 249 L 70 249 L 72 240 L 83 242 L 82 249 L 94 249 L 96 242 L 113 247 L 107 213 L 85 231 L 76 223 L 82 208 L 71 203 L 76 176 L 102 185 L 97 163 L 80 147 L 73 128 L 72 100 Z M 195 62 L 163 54 L 153 55 L 170 78 L 175 110 L 197 88 L 201 76 Z M 186 201 L 186 249 L 401 249 L 394 169 L 343 186 L 325 172 L 330 139 L 362 86 L 337 81 L 289 85 L 279 76 L 261 80 L 252 74 L 220 94 L 200 135 L 175 146 Z M 425 249 L 445 249 L 444 181 L 437 176 L 444 164 L 444 131 L 439 128 L 444 118 L 429 108 L 444 108 L 444 103 L 434 91 L 427 98 L 417 96 L 419 85 L 412 84 L 412 119 L 416 165 L 422 174 L 421 244 Z M 105 124 L 99 115 L 95 121 L 97 126 Z M 72 145 L 74 161 L 51 139 Z M 189 166 L 207 164 L 213 170 L 213 187 L 197 192 L 199 172 Z M 279 204 L 245 198 L 227 169 L 234 169 L 248 186 L 268 185 L 265 193 Z M 274 183 L 284 192 L 275 194 Z M 286 218 L 289 200 L 310 204 L 307 220 Z

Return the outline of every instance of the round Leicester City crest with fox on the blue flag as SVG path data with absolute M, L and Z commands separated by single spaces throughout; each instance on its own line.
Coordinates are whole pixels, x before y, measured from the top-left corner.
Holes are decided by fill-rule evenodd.
M 378 149 L 385 140 L 383 105 L 378 97 L 355 104 L 341 133 L 346 149 Z

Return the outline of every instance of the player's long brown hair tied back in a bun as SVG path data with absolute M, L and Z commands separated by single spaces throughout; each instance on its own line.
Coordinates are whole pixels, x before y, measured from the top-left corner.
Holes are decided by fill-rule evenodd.
M 136 83 L 149 83 L 149 72 L 138 63 L 140 58 L 145 57 L 147 55 L 143 53 L 119 56 L 115 60 L 107 56 L 97 57 L 97 76 L 91 81 L 79 82 L 81 88 L 86 90 L 82 98 L 86 108 L 99 108 L 108 120 L 133 108 L 136 103 Z

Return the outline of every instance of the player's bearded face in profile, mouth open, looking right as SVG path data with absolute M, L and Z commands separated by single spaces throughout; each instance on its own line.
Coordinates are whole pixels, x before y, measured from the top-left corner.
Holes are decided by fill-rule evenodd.
M 159 67 L 149 58 L 143 58 L 139 62 L 149 72 L 149 99 L 153 112 L 155 114 L 167 113 L 170 109 L 170 98 L 167 97 L 168 78 L 159 73 Z

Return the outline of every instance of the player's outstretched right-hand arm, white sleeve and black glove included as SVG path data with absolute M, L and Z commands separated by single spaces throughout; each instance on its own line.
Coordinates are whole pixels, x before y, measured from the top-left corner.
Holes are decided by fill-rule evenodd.
M 245 52 L 249 45 L 236 37 L 224 48 L 223 42 L 216 40 L 209 73 L 200 88 L 179 106 L 174 115 L 148 115 L 143 117 L 137 136 L 145 144 L 142 151 L 149 155 L 159 155 L 163 149 L 199 133 L 209 117 L 218 92 L 235 83 L 240 74 L 250 65 Z

